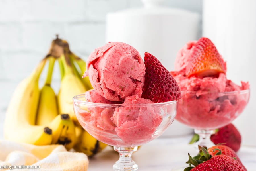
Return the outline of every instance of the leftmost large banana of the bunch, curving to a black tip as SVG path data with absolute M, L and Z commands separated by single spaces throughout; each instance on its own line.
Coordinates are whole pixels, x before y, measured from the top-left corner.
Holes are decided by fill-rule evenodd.
M 45 63 L 46 58 L 16 87 L 5 116 L 5 139 L 36 145 L 51 144 L 51 129 L 35 126 L 39 100 L 38 80 Z

